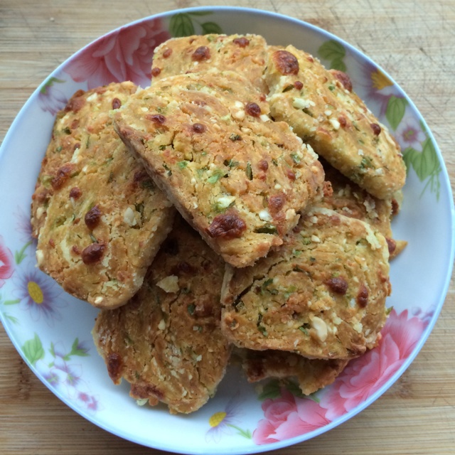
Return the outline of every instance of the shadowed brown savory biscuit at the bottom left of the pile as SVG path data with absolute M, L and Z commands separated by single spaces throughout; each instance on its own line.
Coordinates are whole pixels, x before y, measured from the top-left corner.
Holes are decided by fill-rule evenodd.
M 198 410 L 225 374 L 230 347 L 220 330 L 224 262 L 180 217 L 127 305 L 102 310 L 93 337 L 115 384 L 164 402 L 171 413 Z

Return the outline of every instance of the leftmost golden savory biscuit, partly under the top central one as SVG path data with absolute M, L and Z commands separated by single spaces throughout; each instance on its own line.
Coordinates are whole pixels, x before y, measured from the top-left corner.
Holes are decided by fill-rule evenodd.
M 124 304 L 171 230 L 171 203 L 112 127 L 132 82 L 79 91 L 59 112 L 32 198 L 38 267 L 100 308 Z

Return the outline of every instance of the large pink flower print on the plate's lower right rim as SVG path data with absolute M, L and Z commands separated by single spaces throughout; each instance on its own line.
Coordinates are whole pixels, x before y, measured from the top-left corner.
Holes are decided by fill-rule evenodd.
M 277 399 L 265 400 L 264 419 L 253 433 L 255 443 L 269 444 L 312 432 L 365 402 L 409 358 L 427 324 L 428 320 L 416 316 L 408 319 L 407 310 L 400 314 L 392 310 L 378 346 L 351 360 L 336 381 L 319 392 L 319 403 L 294 397 L 288 390 L 282 390 Z

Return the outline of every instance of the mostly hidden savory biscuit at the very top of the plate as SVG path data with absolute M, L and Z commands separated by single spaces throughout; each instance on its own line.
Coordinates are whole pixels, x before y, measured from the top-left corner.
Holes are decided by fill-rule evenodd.
M 259 35 L 203 35 L 171 38 L 154 50 L 152 84 L 163 77 L 215 68 L 232 70 L 267 93 L 263 73 L 267 43 Z

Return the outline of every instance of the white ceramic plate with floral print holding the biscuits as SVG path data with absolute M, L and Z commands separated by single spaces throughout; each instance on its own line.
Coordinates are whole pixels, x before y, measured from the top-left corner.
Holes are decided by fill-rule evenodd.
M 139 407 L 127 383 L 114 386 L 92 343 L 97 310 L 65 294 L 36 267 L 31 194 L 58 109 L 78 89 L 132 80 L 146 86 L 156 45 L 193 33 L 259 33 L 346 70 L 353 87 L 395 134 L 408 166 L 395 238 L 409 242 L 392 262 L 393 309 L 380 345 L 352 360 L 310 398 L 269 380 L 249 385 L 234 368 L 215 397 L 189 416 Z M 186 454 L 245 454 L 304 441 L 370 405 L 410 365 L 432 330 L 454 262 L 454 208 L 441 153 L 407 95 L 375 63 L 339 38 L 292 18 L 252 9 L 171 11 L 102 36 L 60 65 L 26 102 L 0 152 L 0 316 L 33 373 L 73 410 L 109 432 Z M 5 197 L 9 195 L 9 197 Z M 125 416 L 128 416 L 125 418 Z M 178 428 L 178 437 L 176 437 Z

